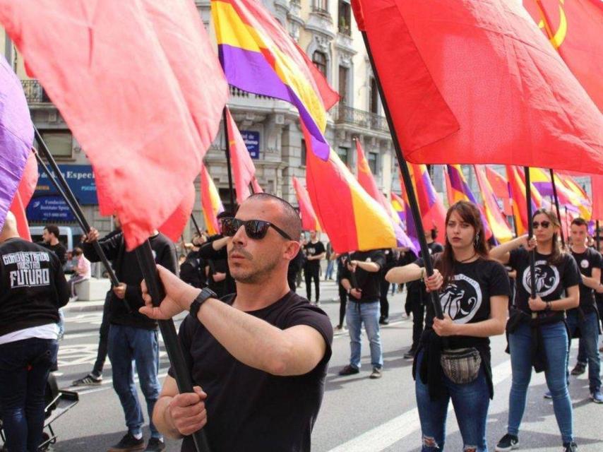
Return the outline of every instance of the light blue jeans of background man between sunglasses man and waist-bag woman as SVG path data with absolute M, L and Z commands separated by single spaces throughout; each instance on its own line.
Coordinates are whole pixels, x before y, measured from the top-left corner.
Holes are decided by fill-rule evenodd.
M 347 330 L 350 331 L 350 365 L 360 369 L 360 327 L 364 322 L 366 336 L 371 347 L 371 365 L 378 369 L 383 367 L 383 352 L 381 352 L 381 336 L 379 335 L 379 316 L 381 309 L 378 300 L 359 303 L 351 299 L 347 302 L 345 311 Z

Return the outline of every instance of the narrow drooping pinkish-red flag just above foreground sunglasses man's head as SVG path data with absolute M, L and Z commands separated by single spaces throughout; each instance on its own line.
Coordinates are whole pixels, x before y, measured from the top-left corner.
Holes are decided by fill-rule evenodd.
M 249 191 L 250 184 L 253 184 L 253 191 L 255 193 L 261 193 L 263 190 L 256 181 L 256 167 L 253 165 L 249 150 L 247 150 L 237 124 L 234 124 L 234 119 L 232 119 L 230 110 L 227 107 L 226 126 L 230 158 L 232 159 L 234 186 L 237 189 L 237 203 L 241 204 L 251 195 L 251 191 Z

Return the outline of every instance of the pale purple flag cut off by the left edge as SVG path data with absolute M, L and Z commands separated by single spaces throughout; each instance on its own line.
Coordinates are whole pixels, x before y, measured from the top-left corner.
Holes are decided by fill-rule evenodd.
M 0 57 L 0 229 L 33 144 L 33 124 L 21 82 Z

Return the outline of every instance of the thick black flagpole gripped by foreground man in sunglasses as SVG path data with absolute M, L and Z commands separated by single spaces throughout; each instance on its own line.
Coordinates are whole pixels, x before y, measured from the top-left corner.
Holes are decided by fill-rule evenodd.
M 155 258 L 153 258 L 153 249 L 151 249 L 148 239 L 136 248 L 136 258 L 141 266 L 149 295 L 153 299 L 153 306 L 157 307 L 161 304 L 162 299 L 165 298 L 165 290 L 159 279 Z M 158 323 L 161 335 L 163 336 L 165 351 L 167 352 L 167 357 L 169 357 L 169 364 L 172 365 L 172 370 L 174 371 L 178 391 L 181 394 L 192 393 L 193 380 L 191 379 L 191 374 L 189 374 L 189 369 L 186 367 L 186 362 L 184 362 L 184 355 L 182 355 L 174 321 L 172 319 L 160 320 Z M 191 436 L 193 437 L 197 452 L 210 451 L 203 429 L 197 430 Z

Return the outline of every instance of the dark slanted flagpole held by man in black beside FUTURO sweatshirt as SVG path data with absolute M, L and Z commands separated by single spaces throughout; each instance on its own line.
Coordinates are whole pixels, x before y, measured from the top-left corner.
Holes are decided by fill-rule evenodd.
M 46 172 L 48 178 L 51 180 L 51 182 L 56 187 L 56 190 L 59 191 L 59 194 L 65 200 L 65 202 L 67 203 L 67 206 L 69 206 L 69 208 L 71 208 L 71 211 L 73 212 L 73 215 L 76 217 L 76 220 L 78 220 L 78 223 L 80 224 L 80 227 L 82 228 L 84 234 L 88 234 L 88 232 L 90 232 L 90 225 L 88 224 L 88 221 L 86 220 L 84 213 L 83 213 L 80 205 L 78 204 L 78 200 L 76 199 L 76 196 L 73 194 L 73 191 L 71 191 L 71 188 L 68 186 L 67 181 L 63 177 L 63 174 L 61 174 L 59 165 L 56 165 L 56 162 L 54 161 L 54 157 L 52 157 L 52 154 L 50 153 L 48 146 L 42 139 L 42 136 L 40 135 L 40 131 L 37 130 L 36 126 L 34 126 L 34 133 L 35 133 L 36 141 L 37 141 L 38 145 L 40 146 L 39 151 L 42 152 L 42 154 L 44 155 L 44 158 L 46 158 L 50 167 L 52 168 L 52 171 L 54 171 L 54 177 L 52 175 L 52 172 L 49 171 L 48 167 L 42 161 L 42 158 L 40 157 L 39 153 L 35 153 L 37 161 L 40 163 L 40 165 L 42 165 L 42 169 L 44 169 L 44 172 Z M 56 177 L 56 179 L 55 179 L 55 177 Z M 105 270 L 107 270 L 107 273 L 109 274 L 109 279 L 111 280 L 111 284 L 113 286 L 118 286 L 119 280 L 117 279 L 117 276 L 115 275 L 115 272 L 113 271 L 113 268 L 109 264 L 109 259 L 107 259 L 107 256 L 105 256 L 105 252 L 102 251 L 100 244 L 98 243 L 97 240 L 95 240 L 94 242 L 91 242 L 91 244 L 92 244 L 92 247 L 94 248 L 94 251 L 96 252 L 97 256 L 99 256 L 100 260 L 102 261 L 103 266 L 105 266 Z M 126 307 L 128 307 L 129 310 L 131 309 L 127 302 L 126 302 Z

